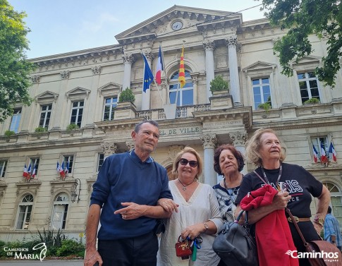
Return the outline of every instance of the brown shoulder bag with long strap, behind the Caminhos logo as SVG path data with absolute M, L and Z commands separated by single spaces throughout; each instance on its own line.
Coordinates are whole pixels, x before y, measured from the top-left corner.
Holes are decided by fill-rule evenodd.
M 295 217 L 291 213 L 290 209 L 286 208 L 286 212 L 291 217 L 295 229 L 298 231 L 300 238 L 304 243 L 305 249 L 312 255 L 307 256 L 311 266 L 341 266 L 342 256 L 341 251 L 336 246 L 325 240 L 305 241 L 305 238 L 300 231 L 300 228 L 295 222 Z

